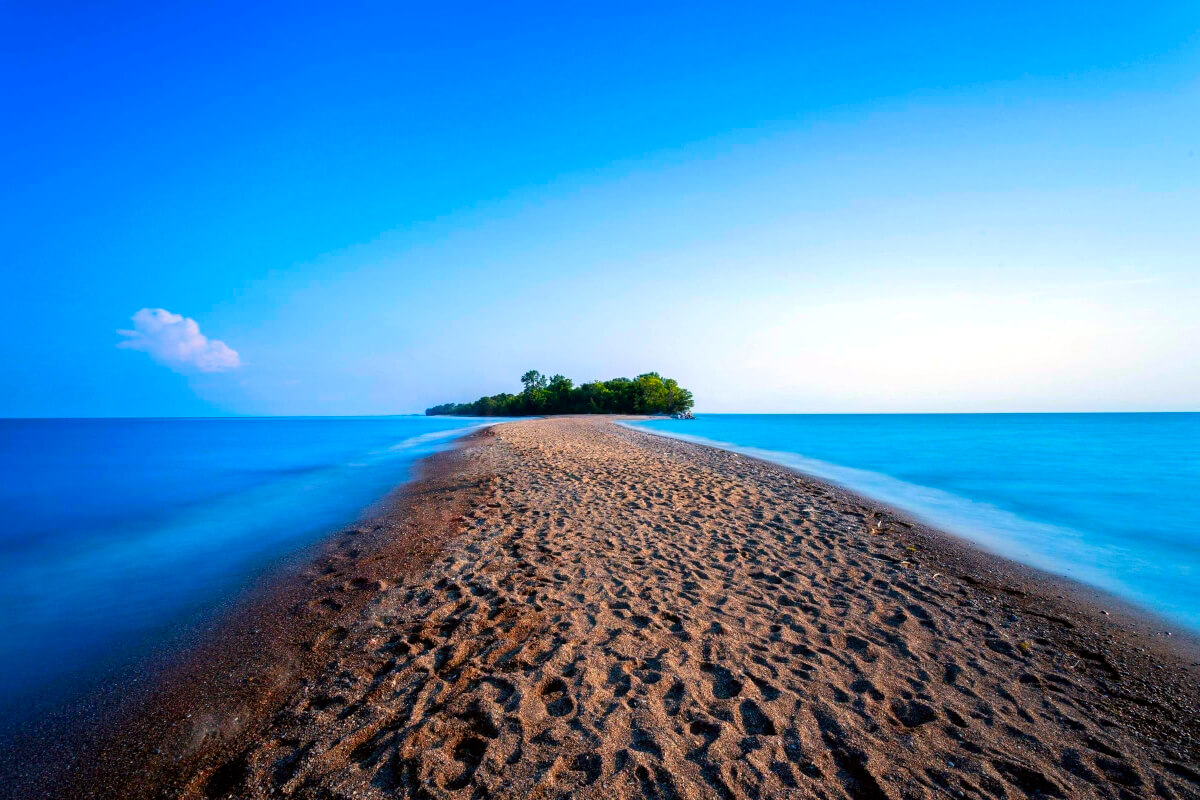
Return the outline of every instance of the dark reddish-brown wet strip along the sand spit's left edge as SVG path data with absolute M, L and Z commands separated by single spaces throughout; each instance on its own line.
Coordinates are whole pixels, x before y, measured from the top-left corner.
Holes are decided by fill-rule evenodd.
M 289 557 L 186 646 L 154 657 L 149 675 L 119 687 L 128 697 L 113 700 L 106 690 L 102 710 L 68 711 L 32 730 L 32 746 L 10 757 L 12 796 L 157 796 L 174 775 L 227 754 L 281 693 L 302 684 L 336 643 L 340 622 L 361 612 L 383 560 L 389 573 L 419 571 L 440 552 L 437 537 L 456 534 L 457 517 L 480 491 L 460 481 L 462 462 L 491 428 L 418 459 L 410 480 L 365 507 L 356 523 Z M 74 721 L 95 729 L 61 736 Z M 169 748 L 161 745 L 181 736 L 166 763 Z M 130 760 L 140 765 L 137 782 L 126 775 Z

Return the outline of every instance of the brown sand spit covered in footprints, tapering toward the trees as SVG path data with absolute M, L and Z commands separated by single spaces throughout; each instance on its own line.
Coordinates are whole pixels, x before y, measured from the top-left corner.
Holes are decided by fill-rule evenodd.
M 610 419 L 421 469 L 49 792 L 1200 796 L 1195 640 L 1102 595 Z

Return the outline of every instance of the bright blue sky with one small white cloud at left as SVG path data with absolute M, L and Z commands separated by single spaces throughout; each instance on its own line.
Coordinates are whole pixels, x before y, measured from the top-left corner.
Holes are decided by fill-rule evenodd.
M 1200 410 L 1200 5 L 565 5 L 0 4 L 0 416 Z

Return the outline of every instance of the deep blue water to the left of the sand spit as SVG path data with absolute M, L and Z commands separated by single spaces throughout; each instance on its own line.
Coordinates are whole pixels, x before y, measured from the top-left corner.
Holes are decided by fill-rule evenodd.
M 482 423 L 0 420 L 0 717 L 130 669 Z

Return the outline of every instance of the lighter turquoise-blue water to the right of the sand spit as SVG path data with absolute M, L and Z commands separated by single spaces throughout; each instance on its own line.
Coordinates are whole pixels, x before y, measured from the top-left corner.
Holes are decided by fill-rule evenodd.
M 1200 631 L 1200 414 L 701 414 L 773 461 Z

